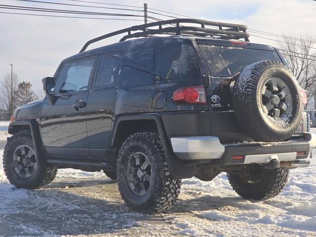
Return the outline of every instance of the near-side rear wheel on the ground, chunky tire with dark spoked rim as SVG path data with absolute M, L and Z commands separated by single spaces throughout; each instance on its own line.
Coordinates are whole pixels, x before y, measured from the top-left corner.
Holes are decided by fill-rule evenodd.
M 136 211 L 163 211 L 180 194 L 181 180 L 170 177 L 156 133 L 135 133 L 125 140 L 118 154 L 117 174 L 121 197 Z

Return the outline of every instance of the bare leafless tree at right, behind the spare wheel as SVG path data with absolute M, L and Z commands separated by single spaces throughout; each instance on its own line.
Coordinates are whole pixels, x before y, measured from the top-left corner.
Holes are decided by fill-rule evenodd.
M 298 80 L 300 86 L 307 90 L 308 104 L 314 103 L 316 83 L 316 53 L 313 51 L 313 37 L 295 37 L 283 35 L 278 47 L 286 59 L 289 69 Z M 316 106 L 316 104 L 315 104 Z

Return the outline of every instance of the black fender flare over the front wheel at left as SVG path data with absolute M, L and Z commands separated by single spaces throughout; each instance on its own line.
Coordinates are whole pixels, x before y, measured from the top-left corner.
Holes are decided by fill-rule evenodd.
M 41 136 L 40 136 L 39 124 L 36 120 L 34 120 L 34 119 L 32 119 L 32 120 L 17 120 L 17 121 L 10 122 L 9 127 L 8 127 L 8 133 L 13 135 L 14 133 L 22 130 L 24 126 L 29 126 L 31 129 L 32 139 L 33 139 L 33 144 L 34 144 L 34 149 L 35 149 L 35 155 L 37 157 L 43 156 L 44 155 L 43 143 L 42 143 Z

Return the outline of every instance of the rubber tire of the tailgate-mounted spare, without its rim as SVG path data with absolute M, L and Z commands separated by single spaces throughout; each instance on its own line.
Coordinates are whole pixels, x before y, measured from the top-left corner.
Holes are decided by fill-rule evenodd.
M 292 110 L 286 121 L 276 121 L 264 112 L 261 89 L 272 78 L 283 81 L 290 91 Z M 232 99 L 237 123 L 255 141 L 284 141 L 294 134 L 302 120 L 303 105 L 298 83 L 289 70 L 277 61 L 248 65 L 235 81 Z

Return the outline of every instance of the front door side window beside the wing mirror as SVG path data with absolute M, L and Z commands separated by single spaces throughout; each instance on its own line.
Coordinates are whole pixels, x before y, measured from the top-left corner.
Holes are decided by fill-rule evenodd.
M 59 93 L 67 93 L 86 90 L 94 60 L 94 58 L 91 58 L 64 64 L 56 81 L 56 91 L 59 91 Z

